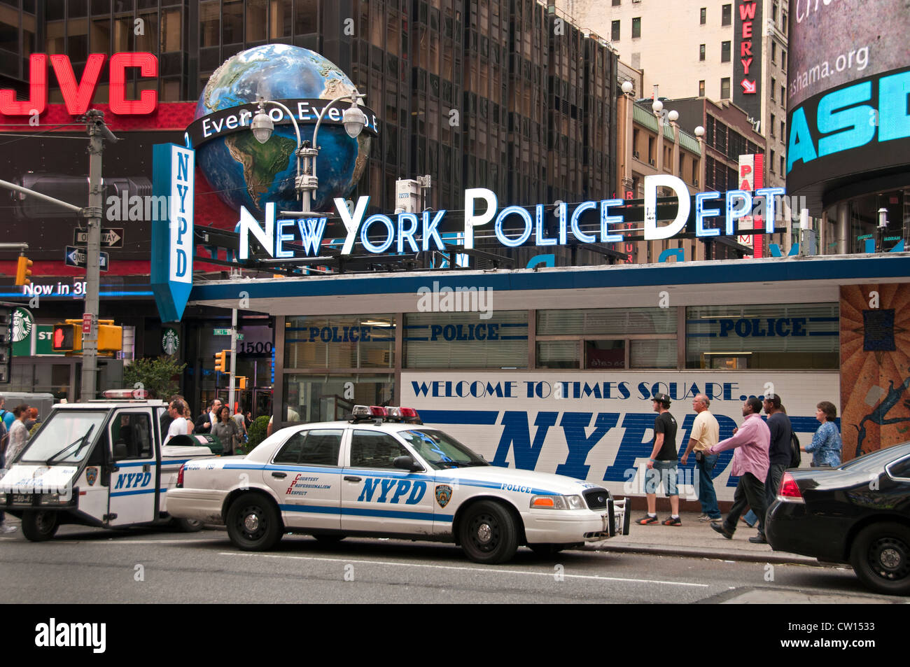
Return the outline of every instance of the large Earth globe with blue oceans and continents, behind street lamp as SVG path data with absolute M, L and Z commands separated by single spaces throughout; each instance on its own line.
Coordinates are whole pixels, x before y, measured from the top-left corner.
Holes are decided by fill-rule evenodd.
M 355 93 L 348 76 L 314 51 L 299 46 L 256 46 L 228 58 L 208 79 L 196 106 L 195 119 L 210 113 L 267 100 L 335 97 Z M 349 106 L 343 100 L 332 108 Z M 267 105 L 267 112 L 278 108 Z M 291 111 L 297 109 L 290 107 Z M 277 112 L 273 112 L 277 117 Z M 328 113 L 328 112 L 327 112 Z M 286 115 L 285 115 L 286 116 Z M 313 120 L 300 121 L 300 140 L 313 140 Z M 197 147 L 197 164 L 218 196 L 234 210 L 241 206 L 254 215 L 264 215 L 267 202 L 277 210 L 300 210 L 294 179 L 297 176 L 297 135 L 294 126 L 276 122 L 272 136 L 260 144 L 249 132 L 217 136 Z M 328 211 L 332 197 L 346 197 L 367 165 L 369 135 L 348 136 L 344 126 L 323 121 L 319 126 L 317 176 L 319 189 L 310 208 Z

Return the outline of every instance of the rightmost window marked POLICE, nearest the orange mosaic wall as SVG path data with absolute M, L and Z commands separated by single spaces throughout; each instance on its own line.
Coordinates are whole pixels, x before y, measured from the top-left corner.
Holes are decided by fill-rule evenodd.
M 686 308 L 688 369 L 837 369 L 836 303 Z

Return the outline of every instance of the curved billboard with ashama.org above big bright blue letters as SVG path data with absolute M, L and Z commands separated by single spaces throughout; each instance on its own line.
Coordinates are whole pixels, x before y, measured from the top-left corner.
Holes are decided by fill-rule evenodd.
M 910 167 L 910 14 L 874 6 L 791 4 L 787 190 L 816 214 L 832 189 Z

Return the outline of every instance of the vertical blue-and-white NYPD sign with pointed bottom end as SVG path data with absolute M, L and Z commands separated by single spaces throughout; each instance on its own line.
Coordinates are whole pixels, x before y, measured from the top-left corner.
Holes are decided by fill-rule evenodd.
M 167 197 L 167 220 L 152 223 L 151 284 L 162 322 L 183 316 L 193 288 L 195 154 L 176 144 L 154 147 L 156 197 Z

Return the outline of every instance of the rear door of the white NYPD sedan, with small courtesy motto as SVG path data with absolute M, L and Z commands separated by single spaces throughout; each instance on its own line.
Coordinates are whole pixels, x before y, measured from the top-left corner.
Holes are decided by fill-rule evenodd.
M 298 430 L 263 470 L 288 528 L 340 528 L 343 433 L 344 429 Z

